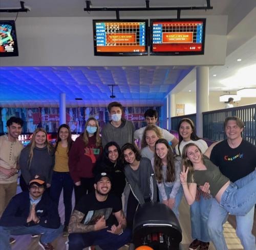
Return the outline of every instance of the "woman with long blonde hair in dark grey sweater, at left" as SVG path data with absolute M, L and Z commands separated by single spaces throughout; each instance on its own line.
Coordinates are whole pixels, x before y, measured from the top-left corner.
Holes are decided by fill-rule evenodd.
M 47 132 L 37 128 L 32 135 L 30 143 L 22 150 L 19 157 L 20 187 L 28 190 L 29 181 L 36 175 L 46 179 L 47 188 L 51 186 L 54 166 L 54 147 L 47 138 Z

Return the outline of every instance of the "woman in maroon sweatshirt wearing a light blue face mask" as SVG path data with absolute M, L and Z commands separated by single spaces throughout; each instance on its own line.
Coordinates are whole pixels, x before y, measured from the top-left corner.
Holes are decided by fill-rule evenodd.
M 69 154 L 69 170 L 75 183 L 75 203 L 87 193 L 94 192 L 93 167 L 102 153 L 99 123 L 91 117 L 84 132 L 76 138 Z

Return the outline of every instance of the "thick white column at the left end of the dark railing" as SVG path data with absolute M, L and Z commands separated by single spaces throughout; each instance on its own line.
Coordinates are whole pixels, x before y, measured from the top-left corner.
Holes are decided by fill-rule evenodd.
M 197 67 L 197 135 L 203 137 L 203 114 L 209 111 L 209 67 Z

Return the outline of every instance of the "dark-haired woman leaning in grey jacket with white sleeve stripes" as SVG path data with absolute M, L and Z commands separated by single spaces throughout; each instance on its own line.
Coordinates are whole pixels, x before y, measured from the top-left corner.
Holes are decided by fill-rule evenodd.
M 122 148 L 122 160 L 125 164 L 124 174 L 131 191 L 127 200 L 127 226 L 132 228 L 134 214 L 139 205 L 157 200 L 156 179 L 150 160 L 141 157 L 138 149 L 131 143 Z

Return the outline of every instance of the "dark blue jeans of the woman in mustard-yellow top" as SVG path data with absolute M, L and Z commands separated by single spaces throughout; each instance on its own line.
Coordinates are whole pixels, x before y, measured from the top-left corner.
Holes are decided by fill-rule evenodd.
M 65 222 L 64 225 L 68 226 L 70 216 L 72 213 L 72 193 L 74 189 L 74 182 L 70 177 L 69 172 L 56 172 L 52 174 L 52 184 L 50 189 L 50 196 L 59 205 L 59 197 L 63 188 L 63 203 L 65 207 Z

